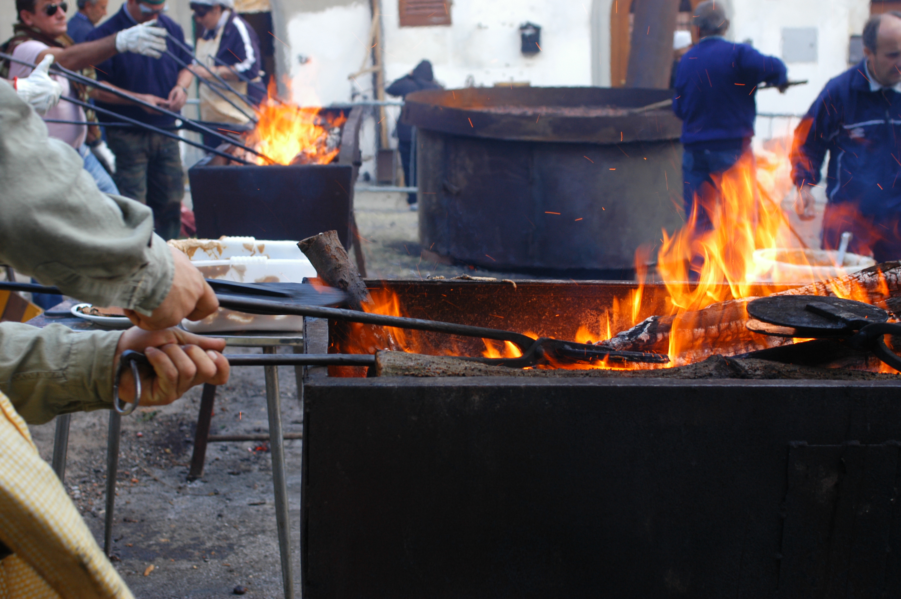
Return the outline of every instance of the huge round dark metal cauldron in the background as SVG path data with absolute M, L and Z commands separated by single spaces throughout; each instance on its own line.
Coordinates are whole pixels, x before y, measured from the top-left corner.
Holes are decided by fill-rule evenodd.
M 488 113 L 490 106 L 641 107 L 668 90 L 468 88 L 408 95 L 424 248 L 485 268 L 591 276 L 682 225 L 681 121 Z

